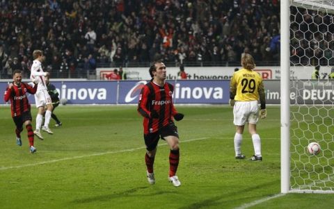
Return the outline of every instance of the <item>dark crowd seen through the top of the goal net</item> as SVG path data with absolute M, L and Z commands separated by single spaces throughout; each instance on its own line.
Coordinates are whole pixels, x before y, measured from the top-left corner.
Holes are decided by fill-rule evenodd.
M 334 16 L 296 7 L 291 7 L 290 11 L 291 62 L 296 65 L 333 66 L 334 35 L 328 31 L 334 30 Z

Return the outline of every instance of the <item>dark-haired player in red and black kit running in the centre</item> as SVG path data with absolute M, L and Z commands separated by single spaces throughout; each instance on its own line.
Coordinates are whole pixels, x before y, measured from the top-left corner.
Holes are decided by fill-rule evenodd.
M 177 121 L 184 115 L 173 105 L 174 87 L 166 80 L 166 66 L 163 62 L 153 62 L 150 69 L 151 81 L 143 86 L 139 95 L 138 112 L 144 117 L 144 141 L 146 145 L 145 164 L 148 183 L 154 184 L 153 164 L 159 139 L 166 140 L 170 147 L 168 181 L 175 187 L 181 185 L 176 176 L 179 165 L 179 135 L 173 118 Z

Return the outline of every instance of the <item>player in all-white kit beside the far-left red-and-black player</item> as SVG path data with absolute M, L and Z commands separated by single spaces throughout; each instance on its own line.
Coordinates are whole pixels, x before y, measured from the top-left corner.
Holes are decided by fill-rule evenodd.
M 49 134 L 53 134 L 49 128 L 49 122 L 52 113 L 52 102 L 49 93 L 47 92 L 47 84 L 45 83 L 45 76 L 48 76 L 48 72 L 44 72 L 42 69 L 42 62 L 45 60 L 43 52 L 40 50 L 33 51 L 33 65 L 31 65 L 31 75 L 30 78 L 33 82 L 38 83 L 37 92 L 35 93 L 35 103 L 36 108 L 38 108 L 38 113 L 36 117 L 36 130 L 33 133 L 43 140 L 42 134 L 40 133 L 40 128 L 43 122 L 43 115 L 45 112 L 45 122 L 42 126 L 42 130 Z M 47 110 L 45 111 L 45 106 Z

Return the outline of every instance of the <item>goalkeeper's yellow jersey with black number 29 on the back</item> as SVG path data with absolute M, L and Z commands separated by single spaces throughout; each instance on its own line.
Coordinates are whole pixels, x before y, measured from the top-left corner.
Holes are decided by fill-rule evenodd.
M 253 70 L 240 69 L 231 78 L 230 91 L 236 101 L 258 101 L 259 92 L 264 92 L 262 77 Z

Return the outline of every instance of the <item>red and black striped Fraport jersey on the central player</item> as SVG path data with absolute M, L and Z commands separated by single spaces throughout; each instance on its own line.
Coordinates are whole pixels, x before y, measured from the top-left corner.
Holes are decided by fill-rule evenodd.
M 170 83 L 159 86 L 152 81 L 141 89 L 138 102 L 138 112 L 143 115 L 144 134 L 154 133 L 173 121 L 177 111 L 173 105 L 174 87 Z M 159 118 L 151 118 L 150 113 L 156 110 Z

